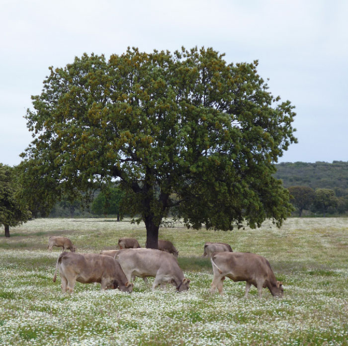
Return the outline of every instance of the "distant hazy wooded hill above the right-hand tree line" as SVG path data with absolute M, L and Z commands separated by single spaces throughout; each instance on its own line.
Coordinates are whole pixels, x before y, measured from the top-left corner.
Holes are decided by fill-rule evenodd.
M 275 166 L 277 173 L 274 177 L 281 179 L 284 187 L 329 188 L 335 191 L 337 197 L 348 195 L 348 162 L 283 162 Z

